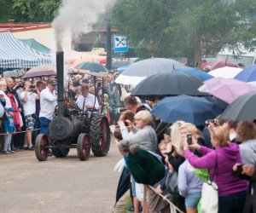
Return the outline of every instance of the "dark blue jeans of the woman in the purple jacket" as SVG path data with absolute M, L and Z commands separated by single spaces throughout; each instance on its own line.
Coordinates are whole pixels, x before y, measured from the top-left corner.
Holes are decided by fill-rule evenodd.
M 247 192 L 244 191 L 218 197 L 218 213 L 241 213 L 246 196 Z

